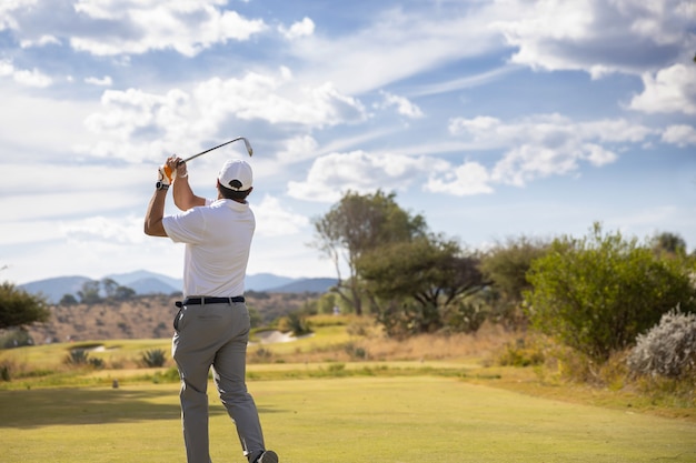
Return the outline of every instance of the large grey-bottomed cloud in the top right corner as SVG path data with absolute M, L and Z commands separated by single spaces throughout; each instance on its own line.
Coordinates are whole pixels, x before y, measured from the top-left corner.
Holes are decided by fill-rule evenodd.
M 638 74 L 684 58 L 696 44 L 688 27 L 690 0 L 514 0 L 505 6 L 517 18 L 494 27 L 518 48 L 513 62 L 531 68 L 584 70 L 594 78 Z

